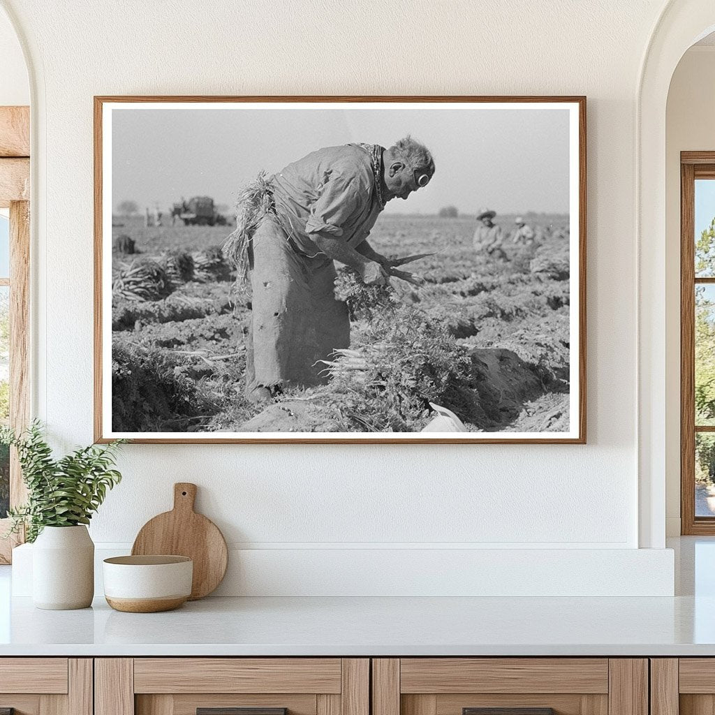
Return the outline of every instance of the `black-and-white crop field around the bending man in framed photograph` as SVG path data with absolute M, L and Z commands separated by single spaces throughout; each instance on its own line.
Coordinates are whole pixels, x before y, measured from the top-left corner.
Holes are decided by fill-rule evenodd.
M 469 430 L 568 429 L 568 237 L 552 230 L 568 218 L 525 218 L 540 245 L 506 241 L 502 260 L 475 252 L 473 218 L 381 217 L 378 252 L 436 252 L 409 266 L 425 285 L 407 301 L 348 286 L 351 352 L 330 385 L 265 409 L 243 397 L 250 296 L 232 291 L 218 248 L 230 228 L 115 217 L 113 239 L 137 253 L 113 256 L 113 429 L 415 431 L 430 401 Z

